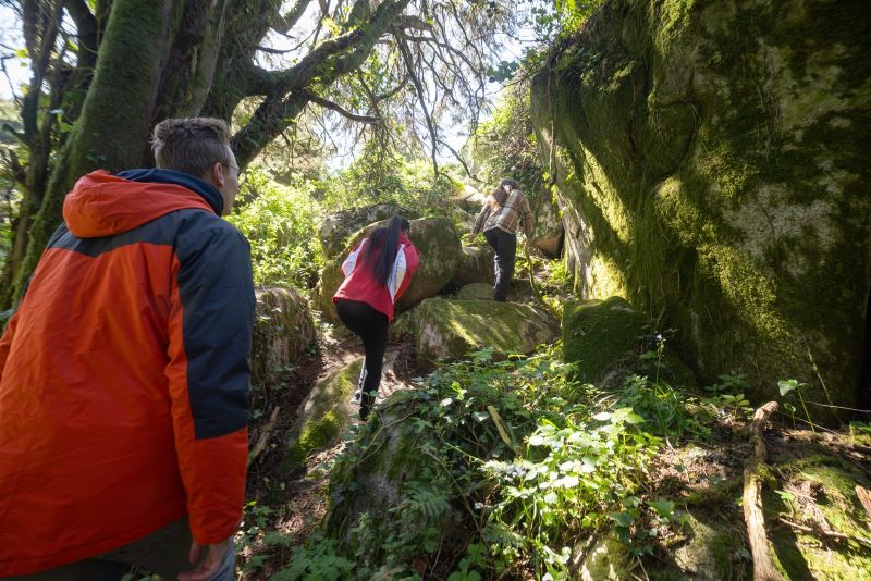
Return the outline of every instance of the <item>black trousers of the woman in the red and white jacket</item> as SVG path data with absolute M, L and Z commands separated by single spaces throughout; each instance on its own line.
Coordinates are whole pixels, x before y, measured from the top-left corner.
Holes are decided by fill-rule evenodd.
M 378 387 L 381 385 L 381 368 L 384 364 L 384 350 L 388 347 L 388 316 L 375 310 L 366 302 L 340 298 L 335 304 L 339 319 L 363 339 L 366 350 L 360 379 L 357 387 L 363 392 L 360 418 L 364 420 L 372 409 Z

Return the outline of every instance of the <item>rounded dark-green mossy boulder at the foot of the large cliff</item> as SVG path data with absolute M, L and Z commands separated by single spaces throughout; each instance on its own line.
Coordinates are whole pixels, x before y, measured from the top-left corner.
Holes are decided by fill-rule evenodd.
M 563 360 L 578 363 L 580 381 L 600 383 L 621 360 L 638 355 L 648 326 L 647 316 L 621 297 L 568 302 L 563 308 Z

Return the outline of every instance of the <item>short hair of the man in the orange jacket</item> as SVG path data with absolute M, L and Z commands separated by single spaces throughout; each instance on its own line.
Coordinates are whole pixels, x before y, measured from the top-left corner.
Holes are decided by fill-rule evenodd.
M 157 166 L 203 177 L 216 163 L 230 159 L 230 127 L 221 119 L 167 119 L 151 137 Z

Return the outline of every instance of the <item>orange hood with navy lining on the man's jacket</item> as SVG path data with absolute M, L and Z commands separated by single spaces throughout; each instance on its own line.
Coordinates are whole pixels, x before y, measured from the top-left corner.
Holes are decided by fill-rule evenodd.
M 76 182 L 63 200 L 63 219 L 79 238 L 113 236 L 184 209 L 223 211 L 221 193 L 207 182 L 173 170 L 102 170 Z

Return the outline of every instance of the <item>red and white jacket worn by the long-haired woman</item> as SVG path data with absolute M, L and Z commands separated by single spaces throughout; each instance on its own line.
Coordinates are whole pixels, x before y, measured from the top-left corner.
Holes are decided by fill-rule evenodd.
M 366 302 L 377 311 L 388 316 L 388 321 L 393 320 L 395 304 L 412 284 L 412 276 L 417 272 L 417 248 L 404 234 L 400 234 L 400 250 L 390 270 L 387 286 L 379 283 L 372 274 L 372 260 L 381 252 L 375 252 L 363 260 L 365 248 L 370 244 L 369 238 L 364 238 L 342 263 L 345 281 L 333 296 L 333 302 L 340 298 Z

